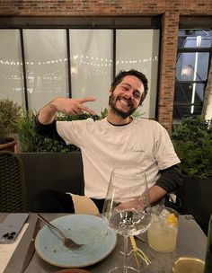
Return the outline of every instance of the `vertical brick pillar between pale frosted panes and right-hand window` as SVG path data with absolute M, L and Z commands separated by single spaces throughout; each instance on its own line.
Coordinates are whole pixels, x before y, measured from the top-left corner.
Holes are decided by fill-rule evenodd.
M 158 121 L 172 130 L 175 65 L 178 42 L 179 13 L 167 12 L 162 17 L 161 66 L 159 71 Z

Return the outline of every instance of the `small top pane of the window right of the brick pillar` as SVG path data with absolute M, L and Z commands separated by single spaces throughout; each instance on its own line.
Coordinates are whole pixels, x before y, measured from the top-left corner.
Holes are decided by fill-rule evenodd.
M 211 30 L 180 30 L 179 48 L 210 48 L 212 44 Z

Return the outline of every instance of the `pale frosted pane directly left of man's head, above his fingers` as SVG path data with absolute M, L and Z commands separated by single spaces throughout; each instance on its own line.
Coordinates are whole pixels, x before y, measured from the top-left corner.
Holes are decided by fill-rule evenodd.
M 87 106 L 98 114 L 108 107 L 112 75 L 112 31 L 71 30 L 72 97 L 95 97 Z

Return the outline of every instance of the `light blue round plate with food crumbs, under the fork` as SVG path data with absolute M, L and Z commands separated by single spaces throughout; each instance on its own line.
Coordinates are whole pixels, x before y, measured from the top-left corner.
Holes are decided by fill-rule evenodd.
M 40 229 L 35 239 L 35 250 L 41 259 L 61 268 L 83 268 L 106 258 L 117 243 L 111 231 L 98 216 L 70 215 L 51 221 L 66 236 L 78 243 L 79 249 L 67 249 L 58 233 L 47 225 Z

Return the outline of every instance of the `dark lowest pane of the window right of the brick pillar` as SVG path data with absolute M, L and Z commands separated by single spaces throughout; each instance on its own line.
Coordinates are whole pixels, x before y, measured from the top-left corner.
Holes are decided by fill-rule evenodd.
M 175 84 L 173 119 L 201 114 L 204 84 Z

